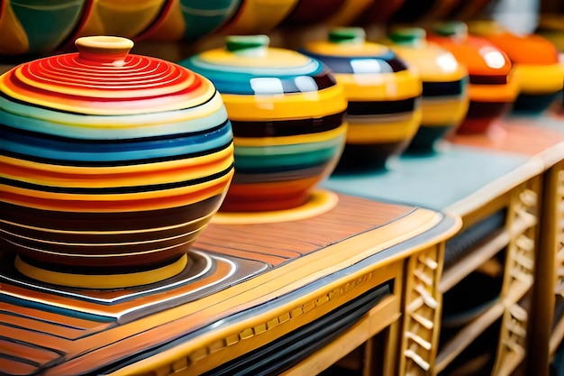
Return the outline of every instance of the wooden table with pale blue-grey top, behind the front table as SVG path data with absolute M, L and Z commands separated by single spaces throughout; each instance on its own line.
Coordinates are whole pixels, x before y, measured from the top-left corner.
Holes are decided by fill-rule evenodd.
M 457 374 L 452 364 L 497 321 L 502 324 L 492 373 L 523 373 L 527 365 L 532 372 L 527 374 L 548 372 L 555 248 L 558 244 L 561 249 L 563 233 L 560 203 L 564 178 L 559 171 L 564 160 L 564 133 L 558 129 L 559 119 L 547 119 L 508 117 L 491 133 L 451 137 L 434 155 L 402 156 L 391 160 L 385 172 L 338 175 L 325 184 L 358 197 L 407 202 L 460 216 L 463 227 L 459 236 L 469 234 L 471 242 L 464 240 L 468 243 L 466 252 L 448 265 L 445 262 L 439 285 L 443 296 L 505 252 L 498 297 L 455 335 L 433 342 L 438 353 L 432 359 L 431 374 Z M 503 213 L 503 223 L 479 235 L 480 224 L 491 222 L 499 213 Z M 481 227 L 483 231 L 484 225 Z M 447 259 L 452 253 L 450 243 Z M 440 326 L 441 322 L 435 324 Z M 550 341 L 550 353 L 562 337 L 560 329 Z M 427 371 L 414 366 L 410 374 Z

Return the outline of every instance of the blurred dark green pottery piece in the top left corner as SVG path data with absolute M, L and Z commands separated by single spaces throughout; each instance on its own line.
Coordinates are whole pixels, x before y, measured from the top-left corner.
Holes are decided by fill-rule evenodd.
M 56 50 L 75 30 L 91 1 L 0 1 L 0 59 L 38 57 Z

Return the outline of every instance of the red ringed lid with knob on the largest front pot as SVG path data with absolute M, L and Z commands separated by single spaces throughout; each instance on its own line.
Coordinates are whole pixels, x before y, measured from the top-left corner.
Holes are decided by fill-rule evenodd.
M 11 101 L 83 115 L 133 115 L 186 109 L 209 101 L 209 80 L 177 64 L 130 54 L 132 41 L 83 37 L 77 53 L 24 63 L 0 77 Z M 10 105 L 10 104 L 7 104 Z M 0 104 L 0 109 L 5 108 Z

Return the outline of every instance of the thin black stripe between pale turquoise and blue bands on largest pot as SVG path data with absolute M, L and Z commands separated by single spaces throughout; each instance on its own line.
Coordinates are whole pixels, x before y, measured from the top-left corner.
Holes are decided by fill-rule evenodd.
M 222 124 L 216 125 L 213 128 L 206 128 L 197 132 L 186 132 L 186 133 L 171 133 L 163 134 L 159 136 L 147 136 L 147 137 L 136 137 L 127 139 L 83 139 L 66 137 L 57 134 L 33 132 L 24 129 L 14 128 L 10 125 L 0 124 L 0 132 L 21 134 L 26 137 L 34 137 L 41 140 L 51 140 L 57 142 L 72 142 L 72 143 L 85 143 L 85 144 L 134 144 L 139 142 L 152 142 L 152 141 L 166 141 L 182 137 L 197 136 L 204 133 L 213 133 L 222 129 L 226 124 L 229 123 L 229 119 L 225 119 Z

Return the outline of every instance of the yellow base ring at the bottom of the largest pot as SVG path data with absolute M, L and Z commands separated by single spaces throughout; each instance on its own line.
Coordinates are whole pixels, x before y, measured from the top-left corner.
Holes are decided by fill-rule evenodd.
M 16 256 L 15 268 L 24 275 L 43 282 L 52 283 L 60 286 L 69 286 L 85 289 L 118 289 L 129 288 L 133 286 L 141 286 L 149 283 L 158 282 L 174 277 L 181 271 L 184 271 L 188 263 L 188 257 L 183 255 L 177 261 L 153 269 L 151 271 L 139 271 L 136 273 L 123 274 L 107 274 L 107 275 L 88 275 L 88 274 L 71 274 L 61 273 L 59 271 L 47 271 L 37 268 L 22 261 Z

